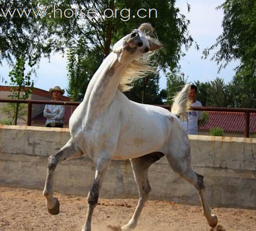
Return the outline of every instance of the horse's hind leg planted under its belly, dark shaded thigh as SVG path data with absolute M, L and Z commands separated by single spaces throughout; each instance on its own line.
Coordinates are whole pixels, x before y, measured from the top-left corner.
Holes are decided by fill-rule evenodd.
M 130 159 L 133 168 L 134 179 L 139 188 L 139 203 L 134 211 L 131 220 L 128 222 L 127 225 L 122 226 L 122 231 L 132 230 L 137 226 L 139 215 L 149 197 L 149 192 L 151 191 L 148 180 L 148 169 L 151 164 L 155 163 L 162 156 L 164 156 L 164 154 L 162 153 L 151 153 L 141 156 L 139 158 Z

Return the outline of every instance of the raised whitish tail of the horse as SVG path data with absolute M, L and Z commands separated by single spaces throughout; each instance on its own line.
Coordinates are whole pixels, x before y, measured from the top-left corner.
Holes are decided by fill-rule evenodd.
M 190 109 L 191 100 L 188 98 L 191 84 L 186 84 L 183 89 L 174 97 L 171 106 L 171 113 L 175 114 L 181 120 L 187 119 L 187 110 Z

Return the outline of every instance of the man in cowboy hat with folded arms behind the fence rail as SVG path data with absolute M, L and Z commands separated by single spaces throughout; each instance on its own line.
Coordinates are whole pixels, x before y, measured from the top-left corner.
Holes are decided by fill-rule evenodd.
M 50 88 L 49 92 L 53 95 L 53 101 L 60 101 L 60 97 L 64 94 L 65 90 L 59 86 Z M 43 110 L 43 116 L 47 118 L 45 126 L 52 128 L 63 128 L 64 124 L 64 105 L 47 104 Z

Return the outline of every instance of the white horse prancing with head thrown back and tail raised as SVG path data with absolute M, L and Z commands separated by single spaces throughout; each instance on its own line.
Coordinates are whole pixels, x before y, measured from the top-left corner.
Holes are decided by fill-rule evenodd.
M 149 166 L 164 155 L 171 168 L 197 189 L 208 224 L 214 227 L 218 223 L 205 199 L 203 176 L 191 168 L 189 139 L 177 118 L 187 115 L 190 85 L 176 96 L 172 113 L 164 108 L 134 103 L 122 93 L 131 88 L 127 84 L 134 76 L 142 77 L 153 70 L 142 57 L 159 49 L 161 44 L 146 31 L 153 31 L 150 24 L 142 24 L 114 45 L 113 52 L 92 77 L 83 102 L 69 120 L 70 140 L 48 159 L 43 195 L 52 215 L 59 213 L 59 201 L 53 197 L 56 165 L 84 154 L 89 155 L 96 165 L 82 231 L 91 231 L 93 210 L 112 159 L 130 159 L 132 164 L 139 188 L 139 203 L 133 217 L 121 230 L 134 229 L 151 190 L 147 176 Z

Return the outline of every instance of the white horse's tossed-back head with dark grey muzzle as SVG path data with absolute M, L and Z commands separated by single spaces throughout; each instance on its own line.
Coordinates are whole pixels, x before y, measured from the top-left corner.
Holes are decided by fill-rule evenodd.
M 149 23 L 144 23 L 117 41 L 113 52 L 117 54 L 118 60 L 129 62 L 149 51 L 159 49 L 162 46 L 160 42 L 147 35 L 147 31 L 152 32 L 153 30 L 154 28 Z

